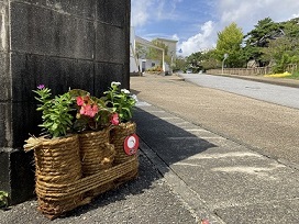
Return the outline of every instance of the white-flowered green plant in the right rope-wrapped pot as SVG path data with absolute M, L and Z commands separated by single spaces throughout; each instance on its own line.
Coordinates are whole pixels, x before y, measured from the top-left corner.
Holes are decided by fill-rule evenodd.
M 128 122 L 132 119 L 132 110 L 137 102 L 136 96 L 132 96 L 128 89 L 120 89 L 121 82 L 111 82 L 108 91 L 102 98 L 108 108 L 119 114 L 120 122 Z

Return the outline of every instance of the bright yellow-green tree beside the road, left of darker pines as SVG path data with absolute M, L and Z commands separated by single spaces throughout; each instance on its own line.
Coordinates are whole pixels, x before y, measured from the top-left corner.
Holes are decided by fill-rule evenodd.
M 215 58 L 223 60 L 224 54 L 229 54 L 229 58 L 225 60 L 228 67 L 243 67 L 245 64 L 241 46 L 243 36 L 242 29 L 234 22 L 224 27 L 222 32 L 218 33 Z

